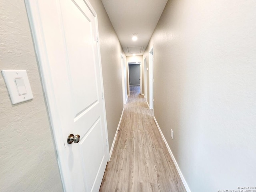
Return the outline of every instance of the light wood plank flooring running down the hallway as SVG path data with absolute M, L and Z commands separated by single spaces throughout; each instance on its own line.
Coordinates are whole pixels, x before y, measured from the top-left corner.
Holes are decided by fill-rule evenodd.
M 186 192 L 140 86 L 130 86 L 100 192 Z

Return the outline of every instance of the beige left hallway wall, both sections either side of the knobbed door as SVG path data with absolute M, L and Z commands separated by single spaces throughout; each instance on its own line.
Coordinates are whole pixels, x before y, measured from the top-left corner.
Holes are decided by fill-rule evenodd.
M 110 148 L 123 109 L 124 52 L 102 2 L 91 3 L 98 14 Z M 0 191 L 63 191 L 24 0 L 0 1 L 0 50 L 0 70 L 27 70 L 34 95 L 12 105 L 0 75 Z

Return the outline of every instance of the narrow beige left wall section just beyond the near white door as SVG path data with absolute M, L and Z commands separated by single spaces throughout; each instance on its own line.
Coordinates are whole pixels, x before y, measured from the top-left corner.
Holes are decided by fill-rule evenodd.
M 121 54 L 125 54 L 101 0 L 90 0 L 90 3 L 98 16 L 100 54 L 110 149 L 124 108 Z M 125 57 L 124 62 L 126 62 Z

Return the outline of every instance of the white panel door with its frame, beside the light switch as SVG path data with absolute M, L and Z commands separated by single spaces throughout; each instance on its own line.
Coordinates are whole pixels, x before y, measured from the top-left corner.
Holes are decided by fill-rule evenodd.
M 98 191 L 109 158 L 97 18 L 85 2 L 26 0 L 67 192 Z

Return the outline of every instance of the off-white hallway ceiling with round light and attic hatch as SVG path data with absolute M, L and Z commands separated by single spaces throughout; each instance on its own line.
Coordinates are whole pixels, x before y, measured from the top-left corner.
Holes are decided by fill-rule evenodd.
M 126 56 L 144 53 L 167 1 L 102 0 Z

